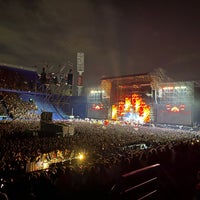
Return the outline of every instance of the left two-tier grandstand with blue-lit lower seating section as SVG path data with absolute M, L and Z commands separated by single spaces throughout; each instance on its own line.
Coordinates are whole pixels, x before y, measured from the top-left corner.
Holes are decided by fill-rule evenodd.
M 0 119 L 36 119 L 42 112 L 52 112 L 53 120 L 86 118 L 85 97 L 69 96 L 67 87 L 65 92 L 53 82 L 41 83 L 36 70 L 0 64 L 0 72 Z

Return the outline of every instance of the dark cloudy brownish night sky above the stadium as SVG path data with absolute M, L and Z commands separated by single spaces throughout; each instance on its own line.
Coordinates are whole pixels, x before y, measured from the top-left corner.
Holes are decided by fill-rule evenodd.
M 72 68 L 85 54 L 84 85 L 163 68 L 200 79 L 198 1 L 0 0 L 0 63 Z

